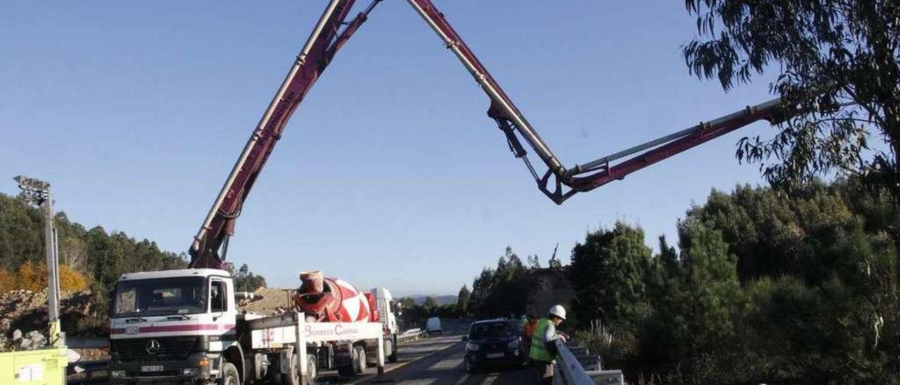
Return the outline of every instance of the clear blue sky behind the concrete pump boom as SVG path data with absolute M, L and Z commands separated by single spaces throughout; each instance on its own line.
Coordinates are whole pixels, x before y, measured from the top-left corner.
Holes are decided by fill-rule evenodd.
M 681 2 L 436 3 L 569 166 L 770 98 L 764 80 L 725 94 L 689 76 Z M 40 177 L 86 227 L 186 250 L 325 4 L 0 4 L 0 192 Z M 274 285 L 320 269 L 455 293 L 507 245 L 546 263 L 558 242 L 567 261 L 617 219 L 674 240 L 710 189 L 760 183 L 734 144 L 772 132 L 757 123 L 556 206 L 487 106 L 419 15 L 384 1 L 294 114 L 230 260 Z

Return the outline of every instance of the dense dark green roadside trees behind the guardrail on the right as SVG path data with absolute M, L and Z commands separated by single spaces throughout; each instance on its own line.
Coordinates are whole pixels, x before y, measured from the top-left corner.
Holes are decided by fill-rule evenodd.
M 898 383 L 900 216 L 887 193 L 743 185 L 676 226 L 677 246 L 660 237 L 654 251 L 617 222 L 556 268 L 508 248 L 457 311 L 542 317 L 567 304 L 563 329 L 630 383 Z

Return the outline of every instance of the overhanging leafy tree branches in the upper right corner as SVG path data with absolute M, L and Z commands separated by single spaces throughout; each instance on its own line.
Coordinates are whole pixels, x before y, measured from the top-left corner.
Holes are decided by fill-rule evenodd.
M 869 175 L 900 198 L 900 2 L 687 0 L 700 38 L 684 47 L 692 74 L 725 91 L 774 71 L 770 86 L 799 113 L 770 139 L 741 140 L 775 185 L 834 172 Z M 811 90 L 816 90 L 809 97 Z M 820 94 L 821 93 L 821 94 Z M 869 149 L 870 130 L 887 150 Z M 775 162 L 766 160 L 774 158 Z

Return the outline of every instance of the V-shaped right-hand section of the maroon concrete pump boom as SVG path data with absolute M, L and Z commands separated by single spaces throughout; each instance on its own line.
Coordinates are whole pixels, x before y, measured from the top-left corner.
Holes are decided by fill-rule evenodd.
M 503 92 L 488 69 L 482 65 L 465 41 L 446 21 L 444 14 L 440 13 L 430 0 L 407 0 L 407 2 L 425 19 L 431 29 L 444 41 L 446 48 L 453 51 L 456 58 L 482 87 L 485 94 L 488 94 L 491 99 L 488 116 L 497 121 L 497 126 L 506 135 L 509 149 L 516 157 L 525 162 L 528 171 L 537 182 L 538 189 L 556 204 L 563 203 L 575 193 L 587 192 L 603 184 L 622 179 L 646 166 L 694 148 L 710 139 L 716 139 L 754 121 L 765 120 L 777 124 L 785 114 L 784 103 L 780 99 L 773 99 L 567 169 L 547 146 L 544 139 L 541 139 L 536 130 L 528 123 L 525 115 L 519 112 L 516 104 L 512 103 L 509 96 Z M 547 170 L 543 176 L 539 176 L 535 167 L 532 166 L 519 137 L 525 139 L 528 146 L 544 162 Z M 614 161 L 623 157 L 629 158 L 613 164 Z M 565 187 L 563 188 L 563 186 Z

